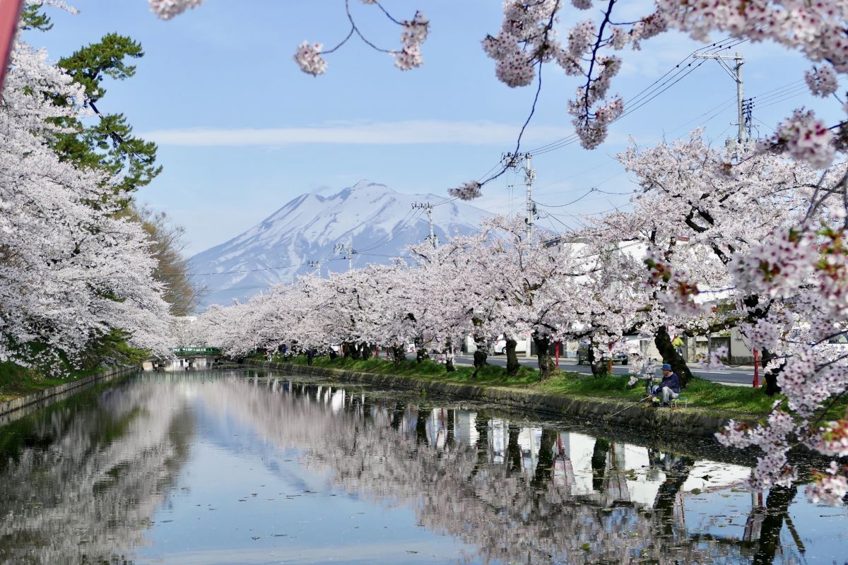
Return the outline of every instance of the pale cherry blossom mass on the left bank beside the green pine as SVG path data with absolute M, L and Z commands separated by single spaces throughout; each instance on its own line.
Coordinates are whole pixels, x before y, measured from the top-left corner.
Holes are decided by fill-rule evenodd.
M 170 345 L 142 226 L 109 208 L 108 178 L 49 147 L 83 96 L 47 53 L 14 44 L 0 106 L 0 357 L 16 363 L 73 365 L 115 332 L 163 355 Z

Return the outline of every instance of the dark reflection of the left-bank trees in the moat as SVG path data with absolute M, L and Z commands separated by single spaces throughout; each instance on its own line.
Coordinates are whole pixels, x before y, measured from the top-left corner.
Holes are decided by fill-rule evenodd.
M 91 407 L 75 396 L 4 428 L 26 439 L 0 451 L 0 562 L 112 562 L 141 546 L 187 459 L 182 387 L 121 386 Z

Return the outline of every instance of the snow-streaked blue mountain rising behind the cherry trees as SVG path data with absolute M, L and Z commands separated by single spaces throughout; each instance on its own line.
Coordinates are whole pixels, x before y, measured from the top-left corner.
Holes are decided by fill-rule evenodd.
M 354 268 L 366 263 L 389 263 L 410 243 L 429 234 L 427 213 L 416 202 L 444 202 L 433 194 L 401 194 L 385 185 L 360 181 L 323 197 L 304 194 L 230 241 L 190 259 L 194 282 L 208 289 L 204 307 L 243 300 L 278 282 L 315 270 L 321 274 L 348 269 L 347 254 L 337 246 L 352 245 Z M 433 228 L 439 240 L 477 230 L 488 213 L 464 202 L 435 206 Z

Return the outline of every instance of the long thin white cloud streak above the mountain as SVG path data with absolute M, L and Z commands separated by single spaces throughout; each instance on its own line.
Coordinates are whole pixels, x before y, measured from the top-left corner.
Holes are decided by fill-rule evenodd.
M 314 125 L 290 128 L 194 128 L 155 130 L 142 138 L 159 145 L 283 146 L 304 143 L 352 145 L 402 145 L 453 143 L 458 145 L 503 145 L 514 143 L 520 127 L 490 121 L 408 120 Z M 527 128 L 524 141 L 551 141 L 571 135 L 566 127 Z

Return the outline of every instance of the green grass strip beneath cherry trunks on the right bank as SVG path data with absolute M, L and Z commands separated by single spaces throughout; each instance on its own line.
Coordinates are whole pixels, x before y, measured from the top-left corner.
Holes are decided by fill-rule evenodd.
M 264 358 L 257 358 L 264 361 Z M 306 357 L 274 359 L 278 363 L 307 364 Z M 447 373 L 444 365 L 426 360 L 423 363 L 406 360 L 398 365 L 393 362 L 371 358 L 352 360 L 337 357 L 315 357 L 313 366 L 322 368 L 341 368 L 364 373 L 396 374 L 438 382 L 460 383 L 466 385 L 504 386 L 555 396 L 585 397 L 593 400 L 639 401 L 645 396 L 644 381 L 633 387 L 628 385 L 628 376 L 606 374 L 594 377 L 590 374 L 556 371 L 550 379 L 539 380 L 538 371 L 522 366 L 515 377 L 509 377 L 506 369 L 489 365 L 472 377 L 471 367 L 457 367 L 453 373 Z M 688 407 L 699 412 L 720 414 L 730 417 L 758 418 L 767 414 L 772 404 L 780 396 L 766 396 L 762 388 L 752 389 L 741 386 L 727 386 L 695 377 L 686 389 L 683 397 Z M 843 408 L 844 410 L 844 408 Z

